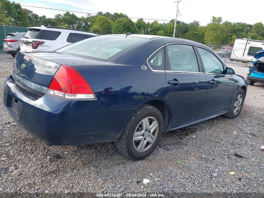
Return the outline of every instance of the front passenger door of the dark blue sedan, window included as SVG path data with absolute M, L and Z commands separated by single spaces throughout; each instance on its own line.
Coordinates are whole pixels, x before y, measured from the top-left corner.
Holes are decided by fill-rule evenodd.
M 223 63 L 212 52 L 197 47 L 207 80 L 207 94 L 200 116 L 213 114 L 229 107 L 233 91 L 232 75 L 225 74 Z

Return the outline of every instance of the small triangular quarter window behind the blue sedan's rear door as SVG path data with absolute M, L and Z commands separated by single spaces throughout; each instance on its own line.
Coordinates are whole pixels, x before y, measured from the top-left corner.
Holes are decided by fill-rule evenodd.
M 165 56 L 164 48 L 159 49 L 149 59 L 148 64 L 153 70 L 164 70 L 165 67 Z

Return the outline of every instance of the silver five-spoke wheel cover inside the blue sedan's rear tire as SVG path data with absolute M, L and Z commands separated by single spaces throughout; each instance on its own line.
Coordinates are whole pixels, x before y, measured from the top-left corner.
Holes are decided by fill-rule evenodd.
M 145 152 L 155 142 L 159 131 L 157 119 L 147 117 L 137 125 L 133 135 L 133 147 L 137 152 Z

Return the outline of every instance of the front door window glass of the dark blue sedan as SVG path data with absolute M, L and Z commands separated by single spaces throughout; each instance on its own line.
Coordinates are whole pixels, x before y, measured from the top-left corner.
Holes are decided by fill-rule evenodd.
M 202 58 L 205 73 L 225 74 L 223 64 L 214 54 L 206 49 L 197 48 Z

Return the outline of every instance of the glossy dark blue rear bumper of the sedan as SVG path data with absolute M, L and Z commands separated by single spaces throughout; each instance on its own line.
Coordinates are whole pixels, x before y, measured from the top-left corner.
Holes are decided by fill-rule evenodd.
M 104 111 L 97 100 L 39 97 L 19 87 L 12 76 L 4 84 L 3 102 L 17 124 L 50 145 L 116 141 L 134 111 Z

